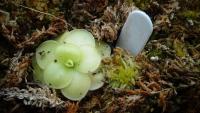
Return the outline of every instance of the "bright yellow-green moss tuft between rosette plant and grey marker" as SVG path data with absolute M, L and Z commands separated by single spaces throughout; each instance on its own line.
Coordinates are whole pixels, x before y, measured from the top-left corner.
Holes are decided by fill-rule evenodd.
M 110 87 L 131 89 L 139 75 L 139 66 L 134 57 L 120 48 L 114 50 L 114 54 L 105 64 L 105 72 Z

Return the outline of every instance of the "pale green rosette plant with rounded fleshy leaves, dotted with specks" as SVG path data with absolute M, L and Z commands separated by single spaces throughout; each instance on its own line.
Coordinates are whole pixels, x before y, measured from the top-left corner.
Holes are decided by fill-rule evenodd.
M 65 32 L 56 40 L 47 40 L 33 57 L 34 79 L 74 101 L 84 98 L 89 90 L 103 86 L 104 75 L 93 74 L 101 59 L 111 54 L 110 47 L 95 41 L 84 29 Z

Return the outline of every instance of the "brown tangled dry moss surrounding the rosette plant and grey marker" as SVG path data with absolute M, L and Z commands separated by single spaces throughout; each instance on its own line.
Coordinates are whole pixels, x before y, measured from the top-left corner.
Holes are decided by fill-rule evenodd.
M 128 12 L 137 8 L 150 15 L 154 32 L 135 59 L 140 73 L 134 86 L 112 88 L 107 81 L 81 102 L 72 102 L 33 82 L 31 56 L 42 41 L 85 28 L 114 47 Z M 198 113 L 199 12 L 199 0 L 3 0 L 0 112 Z M 132 58 L 116 48 L 110 64 L 123 56 L 119 54 Z

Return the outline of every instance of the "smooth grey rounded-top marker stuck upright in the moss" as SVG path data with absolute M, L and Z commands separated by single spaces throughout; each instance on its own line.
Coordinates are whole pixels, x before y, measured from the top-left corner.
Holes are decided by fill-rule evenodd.
M 153 32 L 150 17 L 143 11 L 132 11 L 120 33 L 117 46 L 138 55 Z

